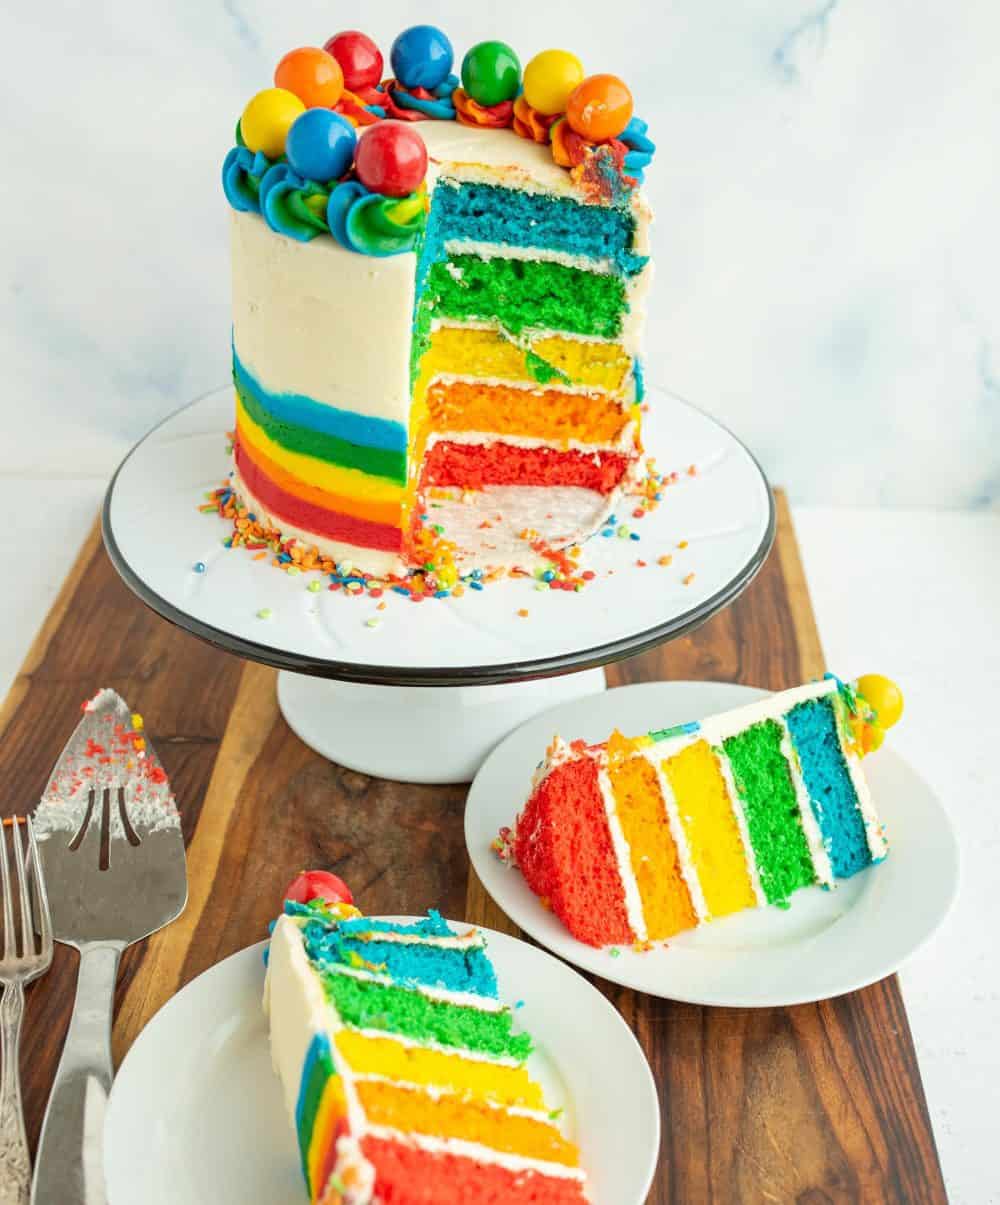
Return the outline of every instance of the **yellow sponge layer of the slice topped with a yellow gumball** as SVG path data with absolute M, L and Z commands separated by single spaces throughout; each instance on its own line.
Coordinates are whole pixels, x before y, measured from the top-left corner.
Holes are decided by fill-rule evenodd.
M 716 754 L 695 741 L 663 763 L 711 916 L 755 907 L 740 829 Z

